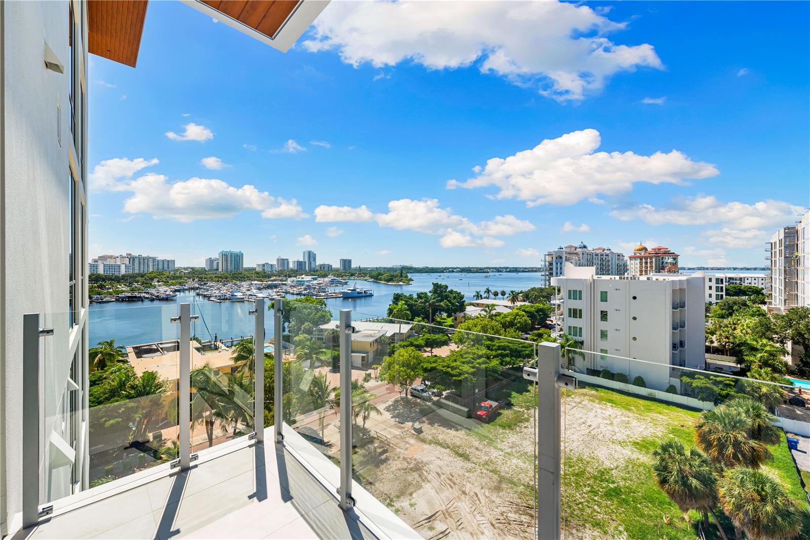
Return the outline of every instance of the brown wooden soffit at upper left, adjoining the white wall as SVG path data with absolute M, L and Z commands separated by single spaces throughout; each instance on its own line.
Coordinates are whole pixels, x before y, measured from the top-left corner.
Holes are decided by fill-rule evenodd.
M 134 67 L 138 63 L 147 0 L 88 0 L 87 49 Z

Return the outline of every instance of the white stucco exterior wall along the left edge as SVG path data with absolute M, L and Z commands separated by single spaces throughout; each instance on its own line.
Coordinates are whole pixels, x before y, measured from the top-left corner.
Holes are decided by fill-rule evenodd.
M 64 74 L 49 71 L 44 63 L 45 43 L 60 62 L 65 65 L 69 62 L 68 4 L 4 2 L 3 9 L 4 189 L 0 196 L 5 208 L 2 216 L 5 255 L 0 266 L 5 294 L 2 298 L 4 324 L 0 328 L 4 390 L 0 417 L 3 459 L 0 461 L 6 498 L 0 513 L 7 521 L 7 529 L 18 525 L 23 482 L 31 481 L 20 478 L 23 451 L 29 451 L 22 447 L 23 314 L 43 314 L 40 326 L 53 326 L 55 332 L 53 336 L 40 339 L 43 382 L 39 420 L 43 463 L 40 493 L 45 499 L 70 493 L 70 478 L 66 478 L 70 476 L 69 471 L 68 474 L 59 469 L 46 471 L 45 453 L 50 431 L 54 427 L 62 430 L 62 398 L 73 352 L 77 347 L 86 349 L 81 345 L 86 312 L 79 315 L 79 325 L 70 330 L 67 320 L 71 137 L 68 75 L 67 71 Z M 87 64 L 86 55 L 84 64 Z M 61 104 L 61 122 L 58 122 L 58 103 Z M 61 145 L 58 140 L 60 123 Z M 83 191 L 83 185 L 79 182 L 79 191 Z M 84 230 L 86 235 L 86 225 Z M 75 265 L 83 264 L 78 258 L 75 261 Z M 86 289 L 82 289 L 86 294 Z

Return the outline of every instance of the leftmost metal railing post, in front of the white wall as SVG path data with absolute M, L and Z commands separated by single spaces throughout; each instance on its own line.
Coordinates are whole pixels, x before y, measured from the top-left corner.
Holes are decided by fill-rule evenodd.
M 36 525 L 40 504 L 40 314 L 23 315 L 23 528 Z

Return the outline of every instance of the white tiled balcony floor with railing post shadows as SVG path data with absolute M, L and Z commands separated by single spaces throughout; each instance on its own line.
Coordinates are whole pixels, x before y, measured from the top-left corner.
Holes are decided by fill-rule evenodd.
M 88 499 L 14 538 L 377 538 L 361 521 L 265 442 Z

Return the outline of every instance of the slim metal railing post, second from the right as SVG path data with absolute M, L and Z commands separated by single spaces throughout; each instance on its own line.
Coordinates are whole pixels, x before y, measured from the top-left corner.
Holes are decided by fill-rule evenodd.
M 340 310 L 340 503 L 343 510 L 352 499 L 352 310 Z

